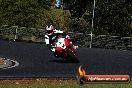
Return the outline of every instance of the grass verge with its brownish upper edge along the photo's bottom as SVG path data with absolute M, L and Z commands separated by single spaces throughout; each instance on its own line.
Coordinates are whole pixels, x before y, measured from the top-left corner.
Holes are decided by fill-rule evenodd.
M 84 84 L 79 85 L 75 80 L 64 81 L 64 80 L 55 80 L 55 81 L 42 81 L 37 80 L 37 82 L 10 82 L 7 81 L 0 83 L 0 88 L 132 88 L 132 82 L 128 84 Z

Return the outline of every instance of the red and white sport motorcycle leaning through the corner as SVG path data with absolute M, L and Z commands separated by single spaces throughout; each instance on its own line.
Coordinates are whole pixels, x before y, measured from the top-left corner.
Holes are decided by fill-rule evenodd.
M 54 46 L 55 53 L 64 60 L 79 62 L 76 57 L 76 50 L 73 48 L 68 37 L 68 35 L 66 37 L 61 36 L 57 39 Z

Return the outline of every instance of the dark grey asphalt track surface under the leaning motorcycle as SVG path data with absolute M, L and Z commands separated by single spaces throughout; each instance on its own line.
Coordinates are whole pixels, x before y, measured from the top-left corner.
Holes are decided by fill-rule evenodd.
M 0 40 L 0 57 L 19 62 L 17 67 L 0 69 L 0 78 L 75 77 L 80 65 L 87 74 L 132 75 L 131 51 L 78 48 L 80 63 L 68 63 L 57 60 L 45 44 Z

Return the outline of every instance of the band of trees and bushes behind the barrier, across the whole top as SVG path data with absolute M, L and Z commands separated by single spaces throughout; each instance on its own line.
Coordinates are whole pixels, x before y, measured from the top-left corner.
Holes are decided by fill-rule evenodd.
M 90 33 L 94 0 L 63 0 L 54 10 L 54 0 L 0 0 L 0 25 L 45 28 L 51 19 L 65 31 Z M 131 0 L 95 0 L 95 35 L 132 36 Z

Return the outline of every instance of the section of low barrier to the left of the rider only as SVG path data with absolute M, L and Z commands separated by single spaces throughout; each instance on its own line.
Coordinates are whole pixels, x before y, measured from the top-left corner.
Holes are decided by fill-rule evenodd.
M 44 29 L 18 26 L 0 26 L 0 38 L 11 41 L 44 42 Z

